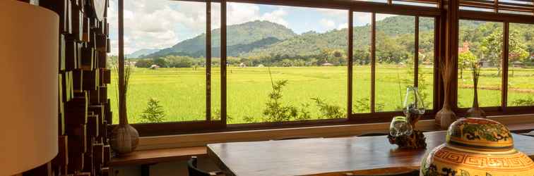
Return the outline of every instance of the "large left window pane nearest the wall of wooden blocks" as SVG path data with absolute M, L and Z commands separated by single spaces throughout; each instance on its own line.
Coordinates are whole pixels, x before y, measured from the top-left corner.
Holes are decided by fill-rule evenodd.
M 206 3 L 124 1 L 124 51 L 129 122 L 206 120 Z

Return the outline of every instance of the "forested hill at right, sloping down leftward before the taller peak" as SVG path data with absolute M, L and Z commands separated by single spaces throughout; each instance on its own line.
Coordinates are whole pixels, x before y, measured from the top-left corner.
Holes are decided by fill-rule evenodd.
M 385 18 L 376 22 L 376 36 L 377 39 L 396 39 L 403 37 L 403 39 L 411 39 L 412 43 L 415 40 L 413 34 L 415 33 L 415 18 L 411 16 L 393 16 Z M 434 29 L 434 20 L 432 18 L 420 19 L 421 34 L 430 34 L 429 31 Z M 364 25 L 353 27 L 354 30 L 354 46 L 356 49 L 364 49 L 371 43 L 371 25 Z M 244 53 L 241 56 L 316 56 L 322 52 L 323 49 L 343 50 L 347 49 L 347 29 L 331 30 L 325 33 L 306 32 L 287 39 L 271 46 L 254 49 L 249 53 Z M 411 38 L 410 38 L 411 36 Z M 425 39 L 428 37 L 425 37 Z M 393 42 L 393 41 L 391 41 Z M 403 41 L 408 42 L 408 41 Z

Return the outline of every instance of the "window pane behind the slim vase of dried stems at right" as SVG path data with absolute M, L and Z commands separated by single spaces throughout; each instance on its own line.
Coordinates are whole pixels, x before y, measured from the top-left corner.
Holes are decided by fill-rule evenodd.
M 473 106 L 473 63 L 480 65 L 479 106 L 501 105 L 502 23 L 460 20 L 458 107 Z

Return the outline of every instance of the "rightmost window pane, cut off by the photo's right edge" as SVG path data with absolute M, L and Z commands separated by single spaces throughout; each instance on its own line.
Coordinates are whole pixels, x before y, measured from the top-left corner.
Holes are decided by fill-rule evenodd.
M 534 106 L 534 25 L 510 23 L 508 106 Z

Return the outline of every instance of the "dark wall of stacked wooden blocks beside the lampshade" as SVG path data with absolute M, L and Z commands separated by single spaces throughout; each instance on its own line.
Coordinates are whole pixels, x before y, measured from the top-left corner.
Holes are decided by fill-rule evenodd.
M 108 7 L 109 1 L 20 1 L 48 8 L 60 20 L 59 153 L 50 163 L 23 175 L 109 175 L 107 125 L 112 124 L 107 99 L 110 70 L 106 68 L 109 23 L 107 18 L 96 18 L 92 5 L 93 1 L 105 1 Z

